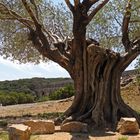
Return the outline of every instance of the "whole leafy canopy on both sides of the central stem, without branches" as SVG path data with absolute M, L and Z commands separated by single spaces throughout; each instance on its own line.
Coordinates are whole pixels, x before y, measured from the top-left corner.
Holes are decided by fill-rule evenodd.
M 126 3 L 127 1 L 113 0 L 101 9 L 87 27 L 87 38 L 98 40 L 102 47 L 122 52 L 124 48 L 121 42 L 121 24 Z M 47 32 L 55 38 L 52 39 L 47 33 L 51 43 L 55 42 L 56 39 L 65 41 L 67 37 L 73 37 L 73 17 L 64 3 L 55 3 L 53 0 L 37 0 L 36 3 L 31 2 L 29 4 L 44 29 L 47 29 Z M 140 35 L 139 12 L 139 0 L 132 1 L 132 14 L 129 24 L 132 40 Z M 46 58 L 42 58 L 33 47 L 33 43 L 30 40 L 27 24 L 32 28 L 35 27 L 21 1 L 0 0 L 0 20 L 0 40 L 2 42 L 0 44 L 0 54 L 4 58 L 19 60 L 22 63 L 46 61 Z

